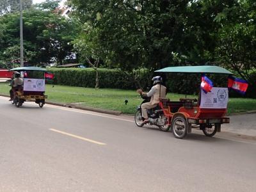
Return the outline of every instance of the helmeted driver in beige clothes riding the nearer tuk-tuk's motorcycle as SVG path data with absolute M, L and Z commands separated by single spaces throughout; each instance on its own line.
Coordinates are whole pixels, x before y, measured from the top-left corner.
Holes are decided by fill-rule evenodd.
M 147 109 L 156 108 L 157 104 L 159 103 L 159 98 L 166 97 L 166 87 L 161 84 L 163 81 L 162 77 L 153 77 L 152 81 L 153 86 L 148 93 L 144 93 L 141 89 L 138 90 L 140 95 L 147 95 L 147 97 L 151 97 L 150 102 L 141 104 L 141 113 L 144 118 L 143 124 L 147 124 L 149 121 Z

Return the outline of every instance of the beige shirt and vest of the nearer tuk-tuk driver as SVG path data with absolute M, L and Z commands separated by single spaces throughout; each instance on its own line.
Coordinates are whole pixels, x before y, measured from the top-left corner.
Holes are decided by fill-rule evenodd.
M 151 90 L 147 93 L 147 97 L 151 97 L 150 104 L 158 104 L 159 98 L 166 97 L 166 87 L 160 84 L 152 86 Z

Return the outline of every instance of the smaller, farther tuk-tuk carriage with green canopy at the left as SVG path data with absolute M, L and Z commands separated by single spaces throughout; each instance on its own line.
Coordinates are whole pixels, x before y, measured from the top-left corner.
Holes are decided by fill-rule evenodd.
M 12 104 L 17 108 L 22 106 L 25 101 L 33 101 L 42 108 L 45 104 L 45 68 L 40 67 L 17 67 L 10 71 L 19 72 L 23 77 L 23 84 L 19 84 L 13 90 Z

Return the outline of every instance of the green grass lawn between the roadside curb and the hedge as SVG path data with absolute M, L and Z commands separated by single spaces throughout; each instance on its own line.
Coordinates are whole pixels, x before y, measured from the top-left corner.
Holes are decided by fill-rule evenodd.
M 0 93 L 9 94 L 8 83 L 0 83 Z M 101 109 L 112 109 L 122 113 L 133 114 L 142 99 L 135 90 L 81 88 L 73 86 L 61 86 L 47 84 L 45 95 L 48 101 L 60 103 L 80 103 L 82 106 L 91 106 Z M 170 100 L 179 100 L 185 95 L 168 93 Z M 196 95 L 188 95 L 196 98 Z M 125 105 L 125 100 L 128 100 Z M 256 110 L 256 99 L 230 98 L 228 102 L 228 114 L 243 111 Z

